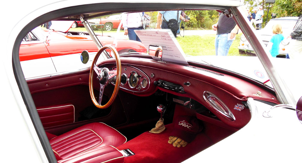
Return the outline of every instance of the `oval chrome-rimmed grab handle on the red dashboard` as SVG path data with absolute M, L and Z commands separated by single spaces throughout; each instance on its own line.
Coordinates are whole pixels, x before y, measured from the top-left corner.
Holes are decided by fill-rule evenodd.
M 224 117 L 226 117 L 228 120 L 230 121 L 235 121 L 236 118 L 234 117 L 233 113 L 230 111 L 230 109 L 224 104 L 224 102 L 222 102 L 221 99 L 219 99 L 216 95 L 214 95 L 213 93 L 209 92 L 209 91 L 204 91 L 204 100 L 210 104 L 210 106 L 215 109 L 215 111 L 217 111 L 218 113 L 220 113 L 221 115 L 223 115 Z M 215 105 L 214 102 L 212 102 L 209 97 L 214 97 L 214 99 L 216 100 L 216 102 L 218 103 L 218 105 Z

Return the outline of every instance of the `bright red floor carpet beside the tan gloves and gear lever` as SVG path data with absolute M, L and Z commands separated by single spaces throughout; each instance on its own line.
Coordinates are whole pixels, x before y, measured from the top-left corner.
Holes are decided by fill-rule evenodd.
M 165 162 L 176 163 L 182 162 L 187 158 L 211 146 L 213 142 L 204 134 L 199 133 L 196 138 L 188 143 L 185 147 L 173 147 L 168 143 L 173 124 L 165 125 L 166 129 L 162 133 L 144 132 L 134 139 L 117 147 L 119 150 L 130 149 L 135 155 L 125 157 L 125 163 L 148 163 L 148 162 Z

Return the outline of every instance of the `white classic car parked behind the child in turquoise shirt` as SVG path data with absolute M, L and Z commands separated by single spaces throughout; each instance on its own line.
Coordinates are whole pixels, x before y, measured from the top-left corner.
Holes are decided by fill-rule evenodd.
M 288 53 L 288 44 L 289 39 L 287 36 L 292 32 L 295 24 L 297 23 L 299 17 L 280 17 L 271 19 L 265 25 L 262 30 L 256 30 L 257 35 L 260 39 L 262 39 L 265 46 L 267 46 L 268 42 L 271 40 L 271 36 L 273 36 L 272 27 L 275 24 L 281 24 L 283 30 L 284 40 L 280 43 L 279 55 L 285 56 Z M 240 54 L 254 54 L 255 52 L 252 46 L 249 44 L 249 41 L 246 39 L 246 36 L 242 35 L 240 37 L 240 44 L 238 46 Z

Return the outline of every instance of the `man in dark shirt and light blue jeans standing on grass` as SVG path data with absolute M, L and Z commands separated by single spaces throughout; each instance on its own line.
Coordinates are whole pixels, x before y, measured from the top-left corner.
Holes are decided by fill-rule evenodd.
M 212 25 L 212 29 L 217 30 L 215 37 L 216 55 L 226 56 L 233 43 L 233 38 L 238 33 L 239 27 L 232 17 L 226 17 L 226 15 L 220 14 L 218 23 Z

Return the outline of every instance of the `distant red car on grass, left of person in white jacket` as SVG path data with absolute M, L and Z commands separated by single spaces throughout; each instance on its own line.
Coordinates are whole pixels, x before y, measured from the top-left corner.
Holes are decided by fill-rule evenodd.
M 109 31 L 112 29 L 117 29 L 118 26 L 120 25 L 121 20 L 122 20 L 122 14 L 118 14 L 118 15 L 111 15 L 106 18 L 91 19 L 88 20 L 88 22 L 93 29 L 104 28 L 104 30 Z M 121 25 L 121 29 L 123 29 L 123 25 Z

